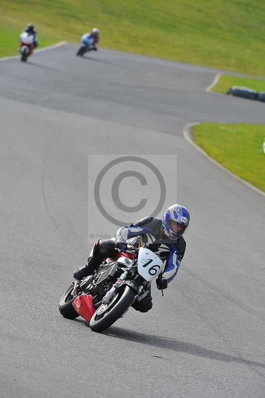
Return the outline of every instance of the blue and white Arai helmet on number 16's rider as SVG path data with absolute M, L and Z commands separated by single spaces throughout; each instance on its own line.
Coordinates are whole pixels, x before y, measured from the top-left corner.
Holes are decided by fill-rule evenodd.
M 173 231 L 171 229 L 171 221 L 175 221 L 178 224 L 183 225 L 182 230 L 179 232 Z M 162 218 L 163 230 L 169 239 L 177 239 L 180 235 L 183 235 L 189 225 L 189 222 L 189 212 L 186 207 L 181 206 L 180 204 L 173 204 L 172 206 L 168 207 Z

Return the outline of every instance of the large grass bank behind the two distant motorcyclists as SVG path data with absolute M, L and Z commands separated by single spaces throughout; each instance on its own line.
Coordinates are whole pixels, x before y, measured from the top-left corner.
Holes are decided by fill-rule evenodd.
M 260 0 L 1 0 L 0 56 L 16 52 L 28 22 L 40 45 L 77 42 L 101 28 L 101 45 L 117 50 L 265 75 L 265 2 Z

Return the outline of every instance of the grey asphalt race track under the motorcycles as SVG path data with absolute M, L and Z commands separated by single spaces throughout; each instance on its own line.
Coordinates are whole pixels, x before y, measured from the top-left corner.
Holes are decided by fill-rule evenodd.
M 207 93 L 220 71 L 75 51 L 0 62 L 0 397 L 264 398 L 265 196 L 183 138 L 190 122 L 264 123 L 264 104 Z M 88 155 L 124 153 L 177 155 L 177 180 L 161 172 L 191 225 L 164 297 L 153 288 L 151 311 L 98 334 L 58 301 L 87 259 L 89 218 L 105 231 Z

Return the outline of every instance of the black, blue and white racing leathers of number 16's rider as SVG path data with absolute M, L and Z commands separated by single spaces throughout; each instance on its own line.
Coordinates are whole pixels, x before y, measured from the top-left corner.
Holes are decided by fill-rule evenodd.
M 88 263 L 74 272 L 74 278 L 80 280 L 91 275 L 106 258 L 115 258 L 117 255 L 116 242 L 120 243 L 121 241 L 130 246 L 145 245 L 165 262 L 163 279 L 167 283 L 171 282 L 176 276 L 186 248 L 183 236 L 171 240 L 163 232 L 160 219 L 145 217 L 133 224 L 121 227 L 117 231 L 115 239 L 95 242 Z M 149 294 L 146 298 L 134 304 L 133 307 L 141 312 L 148 311 L 152 307 L 151 295 Z

